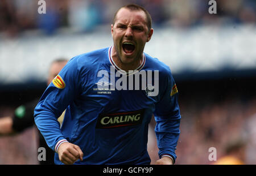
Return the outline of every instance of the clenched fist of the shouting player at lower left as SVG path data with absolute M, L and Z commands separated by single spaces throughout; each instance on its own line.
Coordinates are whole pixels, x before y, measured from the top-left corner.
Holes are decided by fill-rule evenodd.
M 58 149 L 59 159 L 64 164 L 74 164 L 78 159 L 82 161 L 82 153 L 78 145 L 72 143 L 62 143 Z

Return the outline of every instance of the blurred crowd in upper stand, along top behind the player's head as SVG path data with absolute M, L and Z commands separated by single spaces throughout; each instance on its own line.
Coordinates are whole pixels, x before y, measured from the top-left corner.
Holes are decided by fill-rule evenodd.
M 126 3 L 137 3 L 151 14 L 154 27 L 193 27 L 200 24 L 228 25 L 255 23 L 254 0 L 217 0 L 217 14 L 208 12 L 205 0 L 46 0 L 46 14 L 38 13 L 38 1 L 2 0 L 0 32 L 16 36 L 27 29 L 43 29 L 51 35 L 68 27 L 90 32 L 112 21 L 115 10 Z

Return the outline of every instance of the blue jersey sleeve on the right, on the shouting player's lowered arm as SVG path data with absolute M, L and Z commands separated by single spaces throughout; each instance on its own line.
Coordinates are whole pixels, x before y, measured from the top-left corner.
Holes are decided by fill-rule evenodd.
M 159 157 L 170 156 L 176 160 L 175 149 L 180 134 L 180 109 L 178 104 L 178 93 L 174 78 L 169 69 L 168 76 L 163 76 L 159 83 L 160 100 L 155 106 L 155 134 L 158 141 Z

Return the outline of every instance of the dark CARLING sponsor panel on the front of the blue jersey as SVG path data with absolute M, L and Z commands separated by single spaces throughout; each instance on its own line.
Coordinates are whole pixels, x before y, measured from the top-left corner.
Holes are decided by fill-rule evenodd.
M 100 114 L 96 128 L 115 128 L 124 126 L 135 126 L 142 123 L 144 109 L 122 112 L 122 113 L 111 113 L 111 114 Z

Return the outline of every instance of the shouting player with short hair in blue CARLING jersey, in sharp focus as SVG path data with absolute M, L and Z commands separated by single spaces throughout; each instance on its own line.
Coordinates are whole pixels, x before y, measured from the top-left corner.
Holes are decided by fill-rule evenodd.
M 170 68 L 143 53 L 153 34 L 151 23 L 141 6 L 119 8 L 112 24 L 114 45 L 72 58 L 49 84 L 35 108 L 35 123 L 56 152 L 55 164 L 150 164 L 147 138 L 153 113 L 160 158 L 155 164 L 174 164 L 181 118 L 177 88 Z M 121 75 L 127 86 L 125 79 L 134 78 L 134 71 L 148 77 L 151 71 L 156 79 L 147 80 L 146 89 L 134 89 L 130 82 L 132 90 L 108 89 Z M 109 74 L 120 76 L 109 82 Z M 65 109 L 60 128 L 56 117 Z

